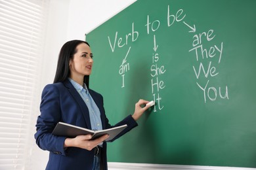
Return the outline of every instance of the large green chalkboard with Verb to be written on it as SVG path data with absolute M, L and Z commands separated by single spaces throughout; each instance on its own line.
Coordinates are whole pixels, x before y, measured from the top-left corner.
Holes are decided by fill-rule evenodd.
M 87 34 L 111 124 L 140 98 L 157 103 L 108 144 L 108 161 L 256 167 L 255 9 L 141 0 Z

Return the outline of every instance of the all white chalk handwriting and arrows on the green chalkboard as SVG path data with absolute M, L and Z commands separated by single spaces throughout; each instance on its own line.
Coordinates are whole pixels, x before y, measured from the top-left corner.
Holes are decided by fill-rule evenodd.
M 223 57 L 223 42 L 218 44 L 213 44 L 213 46 L 208 47 L 205 44 L 207 42 L 212 41 L 215 39 L 215 34 L 213 29 L 209 29 L 207 32 L 196 33 L 196 26 L 191 26 L 185 22 L 186 14 L 184 13 L 183 9 L 177 10 L 177 12 L 173 12 L 170 10 L 170 6 L 167 6 L 167 27 L 172 27 L 175 24 L 183 23 L 187 27 L 190 28 L 189 33 L 194 33 L 192 38 L 192 48 L 188 50 L 188 52 L 192 52 L 195 55 L 196 62 L 200 62 L 199 66 L 196 67 L 192 65 L 194 70 L 194 74 L 196 76 L 196 80 L 206 78 L 206 83 L 202 84 L 202 82 L 196 82 L 200 92 L 203 92 L 203 101 L 206 103 L 207 101 L 215 101 L 216 99 L 228 99 L 228 86 L 223 88 L 211 86 L 210 77 L 213 78 L 219 75 L 217 71 L 216 63 L 213 62 L 212 59 L 217 58 L 217 64 L 221 63 L 221 59 Z M 151 76 L 151 89 L 152 89 L 152 96 L 154 101 L 158 103 L 154 106 L 154 112 L 156 109 L 163 109 L 163 105 L 161 105 L 161 90 L 166 87 L 165 80 L 161 78 L 161 75 L 166 74 L 166 69 L 164 65 L 160 65 L 158 61 L 161 59 L 161 55 L 158 53 L 158 46 L 157 44 L 157 30 L 160 28 L 161 23 L 160 20 L 150 20 L 150 15 L 146 17 L 146 27 L 147 35 L 152 35 L 152 44 L 153 44 L 153 52 L 152 52 L 152 65 L 150 67 L 150 76 Z M 110 49 L 112 52 L 115 52 L 116 48 L 122 48 L 123 46 L 129 45 L 129 50 L 121 65 L 119 66 L 119 75 L 122 78 L 121 88 L 125 87 L 125 73 L 129 71 L 130 65 L 127 62 L 127 56 L 131 49 L 131 43 L 139 40 L 139 31 L 137 31 L 135 27 L 135 23 L 131 24 L 131 31 L 125 35 L 125 37 L 121 37 L 116 31 L 114 38 L 108 36 L 108 42 L 110 44 Z M 206 47 L 207 46 L 207 47 Z M 207 61 L 205 61 L 207 60 Z M 171 74 L 171 73 L 170 73 Z M 223 93 L 224 91 L 224 93 Z

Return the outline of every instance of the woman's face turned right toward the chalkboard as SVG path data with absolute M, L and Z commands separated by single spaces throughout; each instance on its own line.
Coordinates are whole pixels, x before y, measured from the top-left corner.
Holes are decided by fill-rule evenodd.
M 91 75 L 93 54 L 91 48 L 85 43 L 77 45 L 76 51 L 74 58 L 70 59 L 70 78 L 83 80 L 85 75 Z

